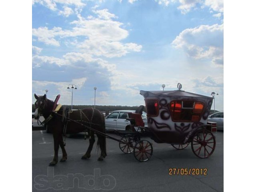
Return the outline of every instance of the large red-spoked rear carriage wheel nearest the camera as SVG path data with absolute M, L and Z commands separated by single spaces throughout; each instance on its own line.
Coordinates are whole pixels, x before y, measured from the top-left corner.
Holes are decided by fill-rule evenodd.
M 206 129 L 196 132 L 191 142 L 192 151 L 200 158 L 208 158 L 214 152 L 215 146 L 215 136 Z

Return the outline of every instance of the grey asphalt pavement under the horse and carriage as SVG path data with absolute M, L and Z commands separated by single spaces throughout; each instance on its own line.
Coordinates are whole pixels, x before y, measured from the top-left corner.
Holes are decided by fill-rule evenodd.
M 124 154 L 118 142 L 110 139 L 107 139 L 108 156 L 104 161 L 97 160 L 96 142 L 91 158 L 82 160 L 89 140 L 84 140 L 81 133 L 66 138 L 67 161 L 50 167 L 54 154 L 52 134 L 44 130 L 32 131 L 32 191 L 223 191 L 223 132 L 217 132 L 215 136 L 215 151 L 207 159 L 196 157 L 190 145 L 184 150 L 176 150 L 170 144 L 142 138 L 152 142 L 153 155 L 147 162 L 138 162 L 133 154 Z M 61 156 L 59 150 L 59 160 Z M 175 168 L 183 171 L 194 169 L 194 175 L 192 172 L 174 174 Z

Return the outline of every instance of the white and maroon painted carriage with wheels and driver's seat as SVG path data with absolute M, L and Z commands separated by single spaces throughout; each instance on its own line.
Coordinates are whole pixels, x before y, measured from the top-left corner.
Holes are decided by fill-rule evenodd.
M 207 118 L 212 106 L 212 97 L 194 94 L 181 90 L 144 91 L 148 127 L 144 127 L 138 113 L 130 113 L 129 130 L 118 132 L 124 136 L 119 146 L 122 152 L 132 153 L 135 158 L 144 162 L 153 153 L 152 144 L 141 140 L 148 136 L 157 143 L 171 144 L 177 150 L 182 150 L 191 144 L 192 151 L 199 158 L 208 158 L 214 152 L 216 140 L 213 133 L 217 131 L 216 124 L 208 122 Z

